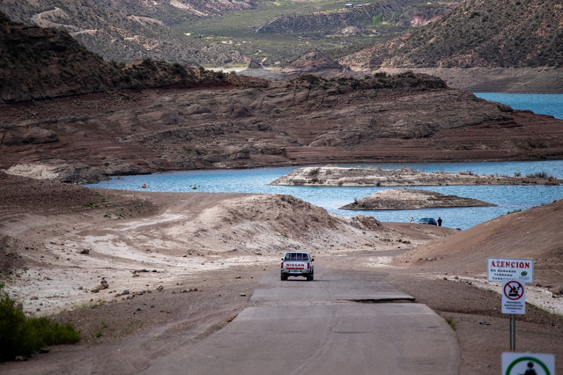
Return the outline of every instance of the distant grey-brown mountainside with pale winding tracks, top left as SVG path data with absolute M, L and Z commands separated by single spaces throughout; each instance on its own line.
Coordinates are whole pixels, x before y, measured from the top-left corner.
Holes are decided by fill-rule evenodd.
M 213 16 L 226 8 L 249 7 L 251 3 L 243 1 L 0 2 L 0 11 L 10 19 L 26 25 L 64 29 L 108 61 L 151 58 L 186 65 L 246 64 L 248 59 L 225 44 L 210 44 L 178 33 L 167 22 Z

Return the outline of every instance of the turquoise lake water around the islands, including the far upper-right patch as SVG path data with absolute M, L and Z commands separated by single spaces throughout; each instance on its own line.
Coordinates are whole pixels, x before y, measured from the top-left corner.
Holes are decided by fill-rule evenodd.
M 483 93 L 478 96 L 508 104 L 517 109 L 530 109 L 535 113 L 549 114 L 563 118 L 563 95 L 525 95 Z M 528 107 L 518 108 L 515 101 Z M 322 164 L 320 164 L 322 165 Z M 370 163 L 340 164 L 346 166 L 379 166 L 385 169 L 408 167 L 424 171 L 445 171 L 458 173 L 471 171 L 478 175 L 522 176 L 529 173 L 546 172 L 556 178 L 563 178 L 563 160 L 540 162 L 479 162 L 479 163 Z M 290 194 L 324 207 L 327 211 L 344 216 L 373 216 L 380 221 L 408 222 L 410 217 L 441 217 L 443 225 L 460 229 L 480 224 L 508 212 L 524 210 L 563 199 L 563 186 L 423 186 L 420 189 L 453 194 L 460 197 L 485 200 L 497 204 L 496 207 L 431 208 L 390 211 L 350 211 L 338 207 L 351 203 L 379 190 L 390 187 L 310 187 L 310 186 L 272 186 L 267 185 L 276 178 L 299 167 L 222 169 L 206 171 L 181 171 L 154 173 L 149 176 L 115 177 L 99 184 L 88 185 L 104 189 L 168 191 L 186 193 L 269 193 Z M 143 184 L 147 185 L 142 189 Z M 193 186 L 197 189 L 192 189 Z M 563 216 L 561 217 L 563 220 Z M 535 225 L 535 223 L 530 223 Z

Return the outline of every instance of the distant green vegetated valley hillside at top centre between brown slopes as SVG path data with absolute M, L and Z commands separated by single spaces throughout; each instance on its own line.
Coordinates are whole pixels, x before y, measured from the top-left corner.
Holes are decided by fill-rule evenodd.
M 256 9 L 235 11 L 222 16 L 189 21 L 174 25 L 178 32 L 202 35 L 204 40 L 221 43 L 233 42 L 233 48 L 266 65 L 284 65 L 303 53 L 317 48 L 342 55 L 337 51 L 358 49 L 366 43 L 385 42 L 406 30 L 404 23 L 373 25 L 372 16 L 390 20 L 402 14 L 418 0 L 379 0 L 355 3 L 320 0 L 301 2 L 277 0 L 262 3 Z M 357 5 L 363 5 L 358 7 Z M 267 26 L 267 28 L 265 28 Z M 363 26 L 367 32 L 342 34 L 348 26 Z

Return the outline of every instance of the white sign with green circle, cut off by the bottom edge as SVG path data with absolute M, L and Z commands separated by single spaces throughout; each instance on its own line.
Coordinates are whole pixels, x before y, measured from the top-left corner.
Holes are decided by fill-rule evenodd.
M 507 352 L 502 354 L 502 375 L 555 375 L 555 355 Z

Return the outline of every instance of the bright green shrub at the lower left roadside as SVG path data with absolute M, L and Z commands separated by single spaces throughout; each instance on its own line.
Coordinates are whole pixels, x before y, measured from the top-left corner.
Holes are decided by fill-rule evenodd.
M 80 333 L 71 324 L 46 317 L 27 318 L 15 301 L 0 293 L 0 361 L 30 355 L 43 346 L 76 343 Z

